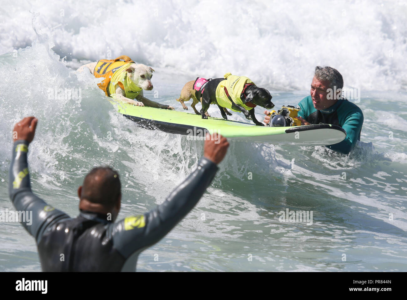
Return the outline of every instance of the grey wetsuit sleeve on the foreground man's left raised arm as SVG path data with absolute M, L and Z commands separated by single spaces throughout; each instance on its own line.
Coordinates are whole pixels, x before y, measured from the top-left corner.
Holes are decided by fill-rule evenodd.
M 16 211 L 21 212 L 21 224 L 34 236 L 37 243 L 44 230 L 61 218 L 68 215 L 50 207 L 31 191 L 30 174 L 28 172 L 28 142 L 18 140 L 13 145 L 13 156 L 9 170 L 9 196 Z

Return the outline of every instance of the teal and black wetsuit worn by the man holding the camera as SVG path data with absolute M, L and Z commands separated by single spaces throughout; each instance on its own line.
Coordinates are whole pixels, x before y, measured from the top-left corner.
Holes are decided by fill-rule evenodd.
M 363 113 L 354 103 L 346 99 L 339 99 L 334 105 L 324 110 L 315 109 L 311 95 L 298 103 L 301 110 L 298 116 L 311 124 L 333 124 L 342 127 L 346 131 L 346 138 L 337 144 L 327 145 L 329 149 L 348 154 L 360 140 L 360 132 L 363 125 Z

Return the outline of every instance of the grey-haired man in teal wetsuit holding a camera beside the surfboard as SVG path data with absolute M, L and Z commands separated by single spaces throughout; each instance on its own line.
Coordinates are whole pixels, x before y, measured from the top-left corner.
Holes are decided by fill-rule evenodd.
M 315 74 L 311 83 L 311 95 L 298 103 L 301 108 L 298 112 L 298 120 L 301 120 L 302 125 L 333 124 L 345 129 L 346 138 L 342 142 L 326 147 L 348 154 L 357 140 L 360 140 L 363 113 L 356 104 L 342 98 L 343 86 L 342 75 L 336 69 L 315 67 Z M 268 115 L 269 111 L 264 113 Z M 266 116 L 263 122 L 269 123 L 270 116 Z

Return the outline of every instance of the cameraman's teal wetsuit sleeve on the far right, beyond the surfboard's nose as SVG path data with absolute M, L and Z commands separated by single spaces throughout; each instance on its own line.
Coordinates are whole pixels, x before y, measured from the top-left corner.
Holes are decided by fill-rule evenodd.
M 346 131 L 346 138 L 337 144 L 328 145 L 329 149 L 338 151 L 343 154 L 348 154 L 353 149 L 363 125 L 363 113 L 361 111 L 355 111 L 345 118 L 345 123 L 342 128 Z

